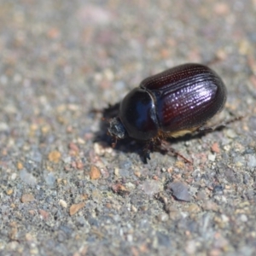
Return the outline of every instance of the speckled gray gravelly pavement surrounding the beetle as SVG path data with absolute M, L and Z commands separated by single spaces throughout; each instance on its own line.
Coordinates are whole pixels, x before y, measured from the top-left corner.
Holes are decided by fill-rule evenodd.
M 255 0 L 1 0 L 0 255 L 255 255 L 255 17 Z M 245 117 L 172 143 L 193 165 L 111 148 L 91 110 L 184 62 Z

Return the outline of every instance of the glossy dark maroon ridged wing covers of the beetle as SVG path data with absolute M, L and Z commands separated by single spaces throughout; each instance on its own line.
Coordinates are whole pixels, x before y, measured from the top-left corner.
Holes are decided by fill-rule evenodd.
M 140 87 L 154 96 L 162 131 L 193 130 L 224 107 L 226 89 L 209 67 L 184 64 L 144 79 Z

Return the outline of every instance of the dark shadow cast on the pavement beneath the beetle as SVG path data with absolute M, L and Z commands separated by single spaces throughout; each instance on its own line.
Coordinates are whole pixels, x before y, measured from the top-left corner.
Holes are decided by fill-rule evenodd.
M 91 111 L 91 113 L 102 113 L 102 120 L 100 122 L 100 129 L 95 133 L 94 142 L 99 143 L 102 145 L 103 148 L 109 147 L 114 143 L 113 137 L 108 135 L 108 126 L 109 121 L 113 119 L 114 117 L 118 116 L 119 113 L 119 103 L 116 103 L 114 105 L 109 105 L 108 108 L 102 109 L 102 111 Z M 212 131 L 221 131 L 224 129 L 224 125 L 219 125 L 214 128 L 214 130 L 211 131 L 198 131 L 192 134 L 187 134 L 183 137 L 177 137 L 177 138 L 167 138 L 166 139 L 166 145 L 168 147 L 161 147 L 156 146 L 154 148 L 153 152 L 160 152 L 160 154 L 171 154 L 172 156 L 182 156 L 174 148 L 172 148 L 172 145 L 175 145 L 177 143 L 184 143 L 191 139 L 200 139 L 201 137 L 204 137 L 207 133 L 210 133 Z M 144 152 L 145 148 L 145 142 L 140 142 L 137 140 L 132 139 L 131 137 L 126 137 L 122 140 L 118 140 L 116 143 L 114 150 L 121 151 L 123 153 L 137 153 L 139 154 L 141 160 L 144 163 L 147 163 L 147 158 Z M 152 152 L 152 153 L 153 153 Z M 183 157 L 183 159 L 185 159 Z

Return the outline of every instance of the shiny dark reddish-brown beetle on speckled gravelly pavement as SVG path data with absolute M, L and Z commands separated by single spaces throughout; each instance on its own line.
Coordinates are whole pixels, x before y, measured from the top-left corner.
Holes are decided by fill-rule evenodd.
M 144 141 L 146 160 L 156 145 L 168 137 L 205 131 L 209 119 L 224 108 L 227 91 L 210 67 L 187 63 L 147 79 L 120 102 L 119 113 L 109 122 L 115 139 Z

